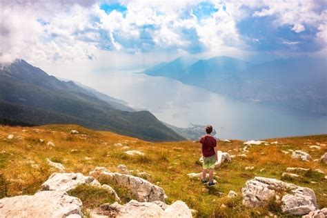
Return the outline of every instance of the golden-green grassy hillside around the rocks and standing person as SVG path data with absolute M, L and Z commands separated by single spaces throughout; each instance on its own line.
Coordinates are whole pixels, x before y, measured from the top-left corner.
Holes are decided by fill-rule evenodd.
M 72 129 L 79 130 L 80 134 L 86 136 L 69 135 L 68 132 Z M 23 130 L 26 131 L 23 132 Z M 9 134 L 13 134 L 15 138 L 7 139 Z M 41 143 L 39 139 L 45 141 Z M 47 146 L 48 141 L 52 141 L 56 147 Z M 268 141 L 275 141 L 275 139 L 268 139 Z M 327 146 L 321 146 L 321 150 L 310 150 L 308 146 L 316 142 L 327 144 L 327 135 L 282 138 L 277 141 L 282 145 L 253 146 L 250 148 L 248 157 L 235 158 L 231 164 L 216 170 L 219 176 L 218 185 L 210 188 L 208 193 L 204 193 L 202 192 L 204 186 L 200 181 L 189 179 L 186 175 L 190 172 L 201 171 L 201 166 L 197 161 L 200 156 L 199 145 L 190 141 L 150 143 L 111 132 L 97 132 L 72 125 L 37 128 L 0 126 L 0 175 L 2 175 L 0 176 L 0 195 L 14 196 L 36 192 L 43 181 L 56 171 L 46 164 L 46 158 L 61 162 L 68 172 L 82 172 L 84 175 L 88 175 L 88 172 L 95 166 L 106 166 L 109 170 L 117 171 L 119 164 L 125 164 L 128 169 L 135 170 L 135 172 L 139 170 L 150 173 L 149 180 L 164 188 L 168 195 L 168 203 L 181 199 L 190 208 L 199 211 L 198 217 L 262 217 L 268 215 L 267 208 L 244 208 L 241 205 L 241 197 L 230 200 L 224 195 L 221 196 L 219 192 L 227 194 L 229 190 L 235 190 L 240 196 L 241 188 L 248 179 L 255 176 L 281 179 L 281 173 L 286 172 L 287 167 L 319 168 L 327 172 L 326 165 L 320 162 L 291 159 L 290 155 L 285 155 L 280 151 L 304 150 L 309 152 L 313 159 L 317 159 L 327 152 Z M 130 146 L 130 150 L 140 150 L 146 156 L 125 155 L 121 146 L 115 146 L 115 143 Z M 242 147 L 242 141 L 219 142 L 219 150 L 225 152 Z M 77 151 L 72 152 L 72 150 Z M 237 155 L 240 152 L 229 153 Z M 87 160 L 85 157 L 92 159 Z M 246 166 L 255 166 L 255 170 L 246 171 L 244 170 Z M 266 170 L 260 172 L 261 168 L 266 168 Z M 323 175 L 309 172 L 303 179 L 281 180 L 313 188 L 319 208 L 327 206 L 327 197 L 324 194 L 327 193 L 327 180 Z M 310 181 L 316 181 L 317 184 L 311 184 Z M 118 192 L 120 196 L 123 193 L 128 195 L 123 189 Z M 72 193 L 81 195 L 79 190 Z M 97 206 L 103 202 L 112 201 L 110 197 L 99 195 L 101 190 L 97 193 L 96 189 L 92 189 L 88 190 L 88 193 L 98 202 L 97 204 L 84 202 L 84 205 Z M 97 196 L 102 197 L 97 199 Z M 85 195 L 81 198 L 88 199 Z M 129 197 L 124 199 L 127 201 Z M 221 204 L 225 204 L 227 208 L 221 208 Z M 270 211 L 274 214 L 279 212 L 273 206 L 270 206 Z

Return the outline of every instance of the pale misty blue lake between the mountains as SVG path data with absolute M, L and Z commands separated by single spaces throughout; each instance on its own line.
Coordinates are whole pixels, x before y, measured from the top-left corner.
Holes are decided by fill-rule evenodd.
M 327 133 L 327 116 L 270 108 L 222 97 L 164 77 L 133 70 L 95 72 L 82 81 L 132 108 L 149 110 L 158 119 L 178 127 L 210 123 L 221 139 L 267 139 Z

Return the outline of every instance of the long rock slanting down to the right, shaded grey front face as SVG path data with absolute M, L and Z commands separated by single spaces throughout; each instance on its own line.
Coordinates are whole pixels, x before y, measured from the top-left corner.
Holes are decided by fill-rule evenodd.
M 95 168 L 95 170 L 90 172 L 90 175 L 106 178 L 112 184 L 128 188 L 137 201 L 165 201 L 166 195 L 161 187 L 151 184 L 149 181 L 141 179 L 140 177 L 125 175 L 118 172 L 108 172 L 106 168 L 101 167 Z

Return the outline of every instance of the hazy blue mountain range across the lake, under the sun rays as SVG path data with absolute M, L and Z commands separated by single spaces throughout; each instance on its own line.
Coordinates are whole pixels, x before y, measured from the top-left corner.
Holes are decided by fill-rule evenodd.
M 301 57 L 253 64 L 231 57 L 179 57 L 144 71 L 244 101 L 327 115 L 327 61 Z

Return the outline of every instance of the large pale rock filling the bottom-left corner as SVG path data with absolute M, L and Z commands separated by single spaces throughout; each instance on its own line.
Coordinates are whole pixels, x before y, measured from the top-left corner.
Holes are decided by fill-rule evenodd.
M 62 191 L 0 199 L 0 217 L 83 217 L 81 200 Z

